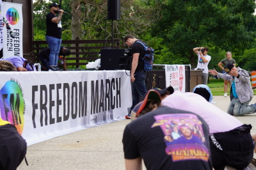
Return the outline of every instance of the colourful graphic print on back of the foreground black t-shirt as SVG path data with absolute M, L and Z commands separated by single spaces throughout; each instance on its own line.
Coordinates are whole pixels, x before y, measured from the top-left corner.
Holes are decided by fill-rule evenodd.
M 209 160 L 205 146 L 202 121 L 195 114 L 161 114 L 154 116 L 152 125 L 161 127 L 166 143 L 165 152 L 173 162 L 182 160 Z

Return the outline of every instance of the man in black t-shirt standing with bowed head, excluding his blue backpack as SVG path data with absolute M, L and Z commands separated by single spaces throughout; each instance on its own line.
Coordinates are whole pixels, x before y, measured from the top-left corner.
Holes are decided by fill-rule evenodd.
M 131 47 L 132 54 L 132 65 L 131 65 L 131 82 L 132 82 L 132 107 L 134 108 L 136 104 L 140 102 L 140 98 L 143 98 L 147 92 L 145 78 L 146 72 L 144 71 L 144 61 L 143 57 L 145 56 L 145 49 L 143 45 L 139 42 L 140 40 L 134 38 L 132 35 L 127 35 L 124 38 L 124 43 L 128 47 Z M 125 118 L 131 118 L 131 112 Z

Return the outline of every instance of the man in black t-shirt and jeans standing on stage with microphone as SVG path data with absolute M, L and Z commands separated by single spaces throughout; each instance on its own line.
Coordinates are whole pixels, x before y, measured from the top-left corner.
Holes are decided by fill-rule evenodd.
M 61 17 L 63 15 L 63 10 L 59 10 L 60 5 L 57 3 L 52 3 L 50 6 L 50 13 L 46 15 L 46 41 L 50 48 L 49 65 L 52 71 L 60 70 L 58 65 L 58 53 L 60 51 L 61 45 Z M 60 13 L 58 17 L 57 13 Z

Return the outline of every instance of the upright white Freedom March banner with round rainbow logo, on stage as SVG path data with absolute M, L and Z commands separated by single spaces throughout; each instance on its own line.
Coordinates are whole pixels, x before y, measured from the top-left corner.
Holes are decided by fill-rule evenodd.
M 3 58 L 23 57 L 22 48 L 22 4 L 2 3 Z

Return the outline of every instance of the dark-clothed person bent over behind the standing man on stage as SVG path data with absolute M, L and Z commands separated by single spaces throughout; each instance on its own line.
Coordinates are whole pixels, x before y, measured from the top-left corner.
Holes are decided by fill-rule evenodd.
M 59 60 L 61 60 L 61 65 L 63 65 L 63 70 L 67 71 L 67 66 L 66 66 L 66 56 L 70 54 L 70 50 L 67 49 L 66 47 L 60 46 L 60 52 L 58 53 L 59 55 Z M 49 55 L 50 55 L 50 48 L 46 48 L 39 53 L 39 58 L 40 61 L 43 63 L 45 68 L 49 70 L 50 65 L 49 65 Z

